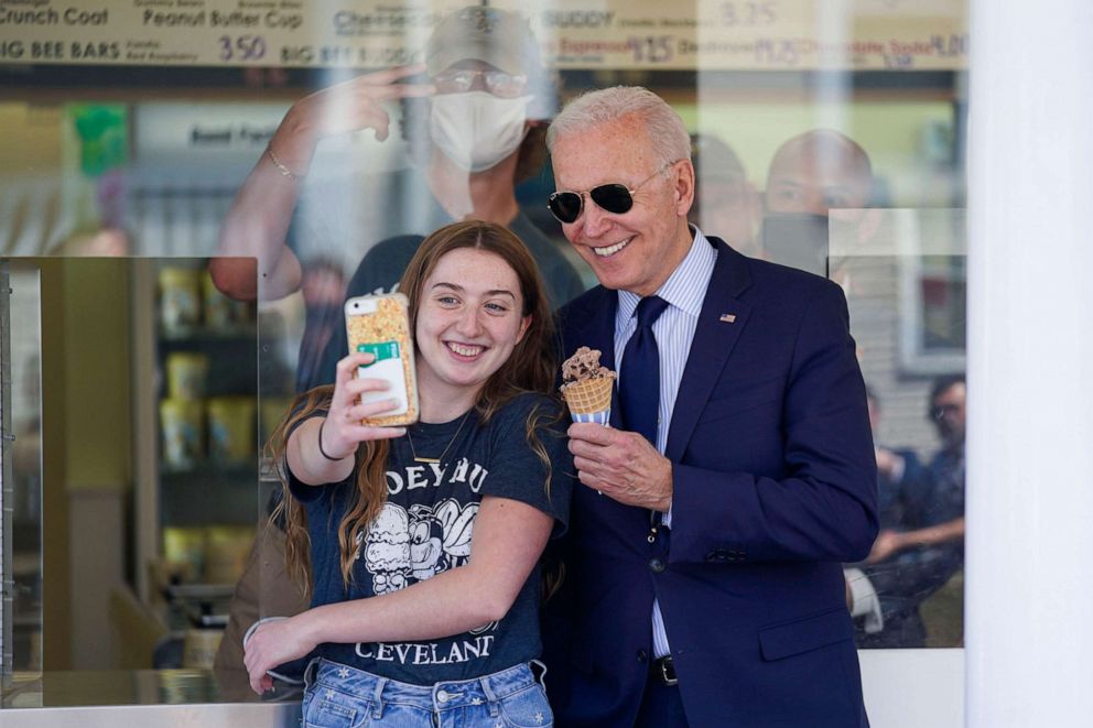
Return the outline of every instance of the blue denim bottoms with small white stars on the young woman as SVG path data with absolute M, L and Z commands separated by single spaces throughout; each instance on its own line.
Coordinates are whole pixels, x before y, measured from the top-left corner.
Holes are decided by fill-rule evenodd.
M 546 728 L 554 725 L 546 693 L 530 664 L 475 680 L 410 685 L 316 658 L 307 666 L 305 677 L 304 728 Z

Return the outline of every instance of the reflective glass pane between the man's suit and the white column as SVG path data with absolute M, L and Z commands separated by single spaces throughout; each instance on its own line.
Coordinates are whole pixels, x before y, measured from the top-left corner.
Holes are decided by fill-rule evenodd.
M 831 213 L 869 387 L 880 535 L 846 575 L 863 648 L 963 644 L 964 211 Z

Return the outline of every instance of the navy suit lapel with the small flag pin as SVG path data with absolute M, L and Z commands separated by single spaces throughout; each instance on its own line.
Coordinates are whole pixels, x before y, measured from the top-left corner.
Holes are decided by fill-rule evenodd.
M 751 284 L 747 259 L 722 240 L 711 240 L 717 248 L 717 262 L 702 302 L 668 431 L 664 455 L 677 463 L 751 313 L 751 306 L 737 297 Z

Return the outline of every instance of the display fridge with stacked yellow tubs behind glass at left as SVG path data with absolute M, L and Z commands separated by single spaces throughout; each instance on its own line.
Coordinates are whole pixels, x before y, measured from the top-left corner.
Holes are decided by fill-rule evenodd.
M 226 623 L 255 537 L 258 326 L 252 304 L 212 285 L 207 259 L 134 262 L 133 406 L 154 423 L 136 433 L 138 594 L 181 645 L 185 630 Z M 212 666 L 209 650 L 193 654 Z M 183 656 L 164 649 L 158 666 Z

